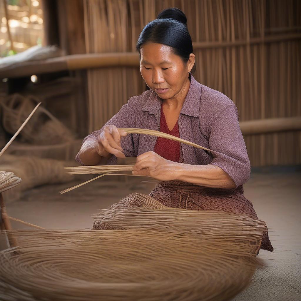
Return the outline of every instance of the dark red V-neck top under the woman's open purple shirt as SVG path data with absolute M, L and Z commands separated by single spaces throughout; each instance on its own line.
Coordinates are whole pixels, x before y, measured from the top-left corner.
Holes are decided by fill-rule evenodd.
M 178 121 L 174 128 L 170 131 L 166 123 L 162 105 L 160 115 L 160 132 L 180 138 Z M 180 142 L 178 141 L 157 137 L 154 152 L 167 160 L 180 162 Z

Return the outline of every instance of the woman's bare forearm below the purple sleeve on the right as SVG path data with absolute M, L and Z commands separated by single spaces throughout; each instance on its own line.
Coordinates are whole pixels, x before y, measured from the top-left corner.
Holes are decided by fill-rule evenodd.
M 232 178 L 219 166 L 175 163 L 175 179 L 213 188 L 235 188 Z

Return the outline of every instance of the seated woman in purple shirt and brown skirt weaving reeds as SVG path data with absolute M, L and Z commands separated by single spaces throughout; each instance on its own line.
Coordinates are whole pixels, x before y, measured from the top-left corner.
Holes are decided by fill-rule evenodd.
M 76 160 L 84 165 L 114 164 L 116 157 L 136 156 L 132 173 L 161 181 L 150 196 L 164 205 L 257 218 L 243 195 L 250 161 L 237 108 L 192 76 L 195 55 L 185 14 L 177 8 L 162 11 L 142 30 L 137 50 L 150 90 L 130 98 L 100 130 L 88 135 Z M 127 135 L 117 128 L 159 130 L 209 148 L 214 157 L 177 141 Z M 261 249 L 273 251 L 268 233 Z

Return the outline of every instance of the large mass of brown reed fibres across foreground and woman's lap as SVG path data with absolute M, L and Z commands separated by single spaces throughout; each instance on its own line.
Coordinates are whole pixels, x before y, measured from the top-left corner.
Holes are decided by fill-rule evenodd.
M 2 299 L 230 300 L 249 284 L 266 231 L 247 215 L 143 194 L 101 210 L 94 228 L 8 231 L 20 247 L 0 252 Z

